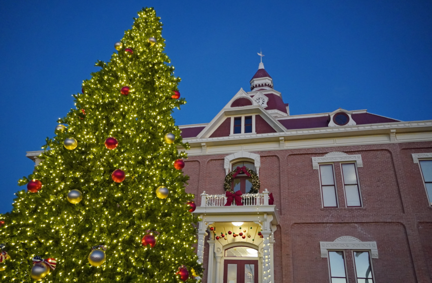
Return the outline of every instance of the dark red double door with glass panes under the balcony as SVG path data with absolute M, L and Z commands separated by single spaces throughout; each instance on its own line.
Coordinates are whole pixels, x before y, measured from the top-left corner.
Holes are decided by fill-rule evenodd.
M 224 260 L 223 283 L 258 283 L 258 261 Z

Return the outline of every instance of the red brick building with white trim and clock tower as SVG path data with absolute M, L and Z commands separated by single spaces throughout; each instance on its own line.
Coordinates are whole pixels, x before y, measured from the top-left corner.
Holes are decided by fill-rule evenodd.
M 250 84 L 180 126 L 203 282 L 431 283 L 432 121 L 290 116 L 263 63 Z

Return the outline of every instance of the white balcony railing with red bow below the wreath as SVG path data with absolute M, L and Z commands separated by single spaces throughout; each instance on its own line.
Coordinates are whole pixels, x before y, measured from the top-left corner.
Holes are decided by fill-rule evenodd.
M 263 193 L 241 195 L 243 206 L 268 206 L 270 192 L 265 189 Z M 223 207 L 226 204 L 225 195 L 208 195 L 206 191 L 201 194 L 201 207 Z M 231 206 L 236 206 L 235 201 Z

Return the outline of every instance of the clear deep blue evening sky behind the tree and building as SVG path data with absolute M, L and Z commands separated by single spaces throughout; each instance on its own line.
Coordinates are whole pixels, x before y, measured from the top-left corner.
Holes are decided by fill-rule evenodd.
M 367 109 L 432 119 L 432 1 L 4 1 L 0 9 L 0 212 L 33 170 L 25 151 L 54 135 L 72 94 L 144 6 L 164 24 L 188 103 L 178 125 L 210 122 L 263 51 L 291 115 Z M 21 189 L 25 189 L 22 187 Z

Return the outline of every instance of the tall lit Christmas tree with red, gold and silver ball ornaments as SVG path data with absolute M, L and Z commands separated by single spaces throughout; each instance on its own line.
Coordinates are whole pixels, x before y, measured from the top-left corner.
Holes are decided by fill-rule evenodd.
M 0 215 L 1 282 L 196 282 L 202 273 L 177 151 L 188 145 L 171 117 L 185 104 L 180 78 L 155 11 L 138 15 Z

